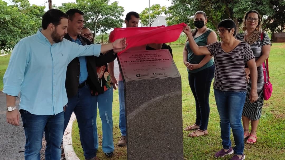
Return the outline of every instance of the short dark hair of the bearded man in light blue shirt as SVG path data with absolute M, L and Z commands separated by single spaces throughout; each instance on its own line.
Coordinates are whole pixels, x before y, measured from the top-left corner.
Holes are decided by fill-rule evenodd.
M 50 9 L 44 13 L 42 16 L 42 29 L 48 28 L 49 24 L 54 24 L 54 26 L 58 26 L 61 22 L 62 18 L 69 19 L 69 16 L 58 9 Z

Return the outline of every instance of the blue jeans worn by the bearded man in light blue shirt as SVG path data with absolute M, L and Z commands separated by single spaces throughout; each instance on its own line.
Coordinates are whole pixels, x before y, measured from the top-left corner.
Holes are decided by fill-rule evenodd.
M 33 115 L 21 109 L 25 130 L 25 160 L 40 160 L 42 137 L 46 138 L 46 160 L 60 160 L 64 112 L 57 115 Z

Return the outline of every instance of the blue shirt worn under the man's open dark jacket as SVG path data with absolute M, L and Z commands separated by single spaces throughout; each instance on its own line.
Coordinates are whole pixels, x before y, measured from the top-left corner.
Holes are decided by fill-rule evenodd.
M 82 45 L 79 38 L 77 38 L 76 40 L 72 39 L 72 37 L 70 37 L 70 38 L 71 38 L 72 42 L 75 42 L 79 45 Z M 82 84 L 88 78 L 87 64 L 86 64 L 86 58 L 85 57 L 78 57 L 78 59 L 79 59 L 79 63 L 80 63 L 79 84 Z

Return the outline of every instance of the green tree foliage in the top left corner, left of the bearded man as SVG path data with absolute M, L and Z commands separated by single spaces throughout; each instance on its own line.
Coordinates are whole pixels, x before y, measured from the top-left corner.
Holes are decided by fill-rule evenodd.
M 24 37 L 30 36 L 41 27 L 44 6 L 30 6 L 28 0 L 14 0 L 7 5 L 0 0 L 0 50 L 13 48 Z

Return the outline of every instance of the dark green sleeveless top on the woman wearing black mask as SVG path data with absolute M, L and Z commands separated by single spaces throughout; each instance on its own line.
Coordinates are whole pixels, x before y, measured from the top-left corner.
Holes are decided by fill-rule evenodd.
M 213 30 L 208 28 L 207 31 L 203 33 L 201 36 L 194 38 L 197 45 L 198 46 L 207 45 L 207 38 L 212 31 Z M 205 55 L 194 55 L 194 53 L 190 49 L 189 41 L 187 41 L 185 45 L 186 45 L 186 49 L 188 50 L 188 62 L 191 64 L 199 64 L 202 61 L 202 59 L 205 57 Z M 213 58 L 208 63 L 206 63 L 203 67 L 195 69 L 195 70 L 189 70 L 187 68 L 187 71 L 191 73 L 197 73 L 205 68 L 211 67 L 212 65 L 214 65 Z

